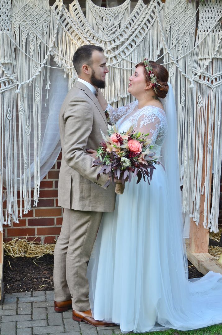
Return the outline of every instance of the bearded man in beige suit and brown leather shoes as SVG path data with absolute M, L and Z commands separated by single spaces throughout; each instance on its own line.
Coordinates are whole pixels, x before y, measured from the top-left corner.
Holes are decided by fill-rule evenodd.
M 115 191 L 108 178 L 93 167 L 101 132 L 108 125 L 95 93 L 105 87 L 109 72 L 103 49 L 85 45 L 76 50 L 73 65 L 78 80 L 65 97 L 60 110 L 59 128 L 62 162 L 59 173 L 59 206 L 64 208 L 62 229 L 54 252 L 55 311 L 72 308 L 73 320 L 94 326 L 110 326 L 94 320 L 89 303 L 87 264 L 96 239 L 103 212 L 115 206 Z

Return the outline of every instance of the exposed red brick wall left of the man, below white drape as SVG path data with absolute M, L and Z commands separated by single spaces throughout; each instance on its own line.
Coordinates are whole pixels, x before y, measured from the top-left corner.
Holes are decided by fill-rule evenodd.
M 58 206 L 58 178 L 62 154 L 40 183 L 40 198 L 37 207 L 23 214 L 19 223 L 4 227 L 4 241 L 15 237 L 27 237 L 41 243 L 55 243 L 62 225 L 62 208 Z M 20 193 L 18 193 L 18 196 Z M 33 194 L 32 194 L 33 196 Z M 20 200 L 18 200 L 20 202 Z M 34 201 L 32 200 L 32 205 Z

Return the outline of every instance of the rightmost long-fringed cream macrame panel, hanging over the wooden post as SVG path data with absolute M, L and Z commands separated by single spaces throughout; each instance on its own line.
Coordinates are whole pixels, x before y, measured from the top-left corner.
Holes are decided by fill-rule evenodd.
M 193 219 L 199 223 L 200 196 L 205 194 L 204 226 L 218 231 L 220 174 L 222 159 L 222 2 L 210 0 L 200 5 L 196 48 L 193 57 L 196 108 L 193 111 L 190 173 L 193 179 L 188 192 L 193 200 Z M 204 47 L 205 46 L 205 47 Z M 204 137 L 206 135 L 206 141 Z M 205 154 L 204 154 L 205 153 Z M 210 212 L 210 174 L 214 165 L 212 209 Z M 205 168 L 204 168 L 205 167 Z M 204 170 L 203 170 L 204 169 Z M 195 172 L 195 173 L 193 173 Z M 205 180 L 202 181 L 204 172 Z

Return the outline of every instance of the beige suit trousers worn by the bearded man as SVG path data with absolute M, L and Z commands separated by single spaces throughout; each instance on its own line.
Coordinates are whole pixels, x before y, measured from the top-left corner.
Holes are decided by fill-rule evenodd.
M 72 299 L 72 308 L 90 309 L 86 277 L 103 212 L 64 209 L 62 229 L 54 251 L 55 301 Z

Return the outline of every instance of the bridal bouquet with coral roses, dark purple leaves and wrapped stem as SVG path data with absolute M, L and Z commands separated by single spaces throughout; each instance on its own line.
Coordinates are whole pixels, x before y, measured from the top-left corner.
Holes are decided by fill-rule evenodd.
M 135 176 L 137 176 L 137 184 L 142 177 L 150 184 L 155 169 L 154 164 L 159 162 L 155 153 L 152 152 L 151 139 L 147 138 L 149 134 L 144 135 L 138 131 L 135 133 L 133 126 L 124 133 L 118 133 L 115 126 L 108 130 L 108 135 L 104 135 L 102 131 L 101 133 L 103 142 L 97 149 L 98 159 L 92 166 L 101 165 L 97 180 L 103 173 L 109 175 L 105 187 L 111 182 L 114 184 L 114 178 L 121 181 L 115 186 L 117 194 L 123 194 L 124 183 L 130 182 Z

